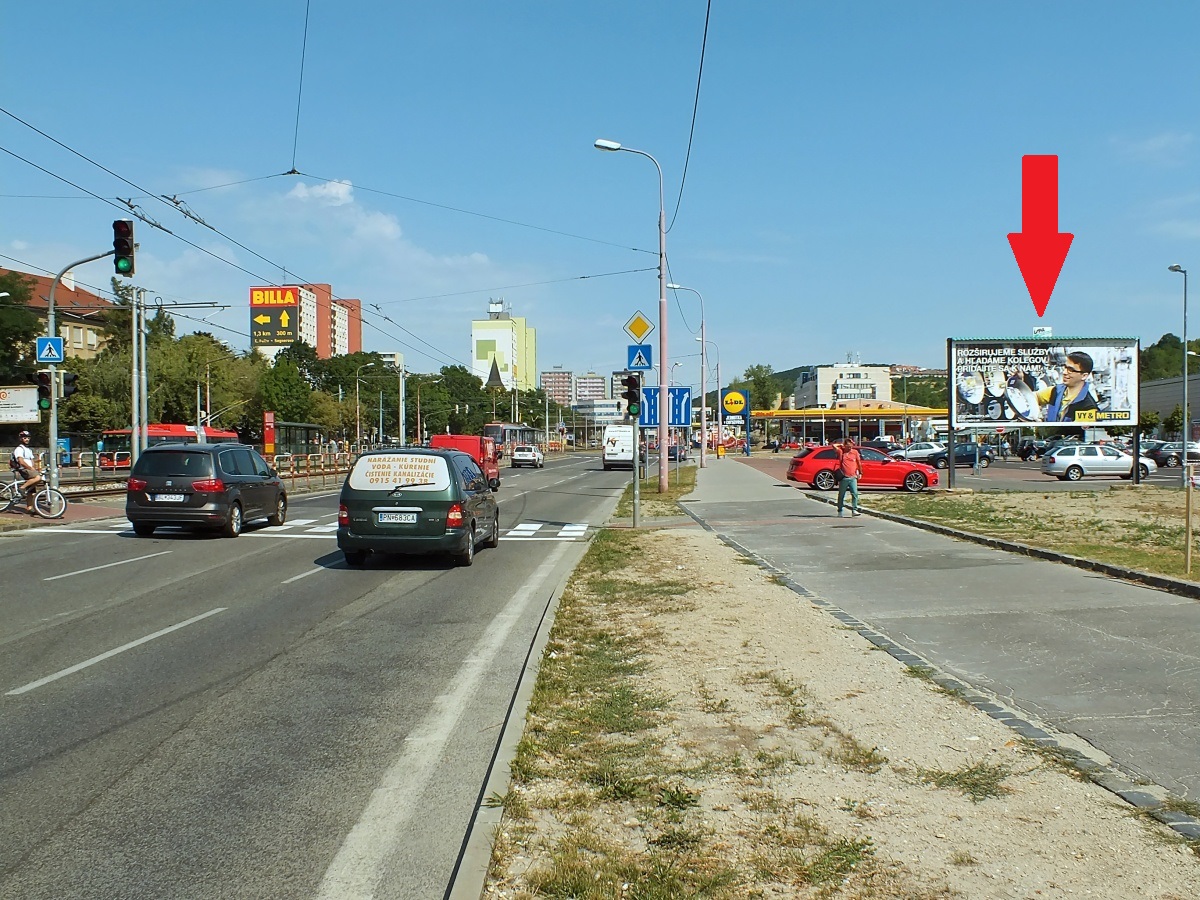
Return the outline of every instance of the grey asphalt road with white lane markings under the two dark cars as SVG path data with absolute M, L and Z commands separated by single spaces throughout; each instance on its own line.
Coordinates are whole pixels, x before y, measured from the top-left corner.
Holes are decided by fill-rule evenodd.
M 443 896 L 546 605 L 629 473 L 502 476 L 506 533 L 469 569 L 346 568 L 335 493 L 238 540 L 0 539 L 0 898 Z

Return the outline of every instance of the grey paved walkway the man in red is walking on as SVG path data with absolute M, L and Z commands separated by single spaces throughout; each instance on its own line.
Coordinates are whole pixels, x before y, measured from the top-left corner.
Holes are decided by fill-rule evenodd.
M 870 492 L 866 515 L 838 518 L 784 473 L 786 457 L 710 460 L 683 505 L 809 601 L 1024 737 L 1078 755 L 1132 803 L 1200 802 L 1200 602 L 874 516 Z M 1195 820 L 1162 817 L 1200 838 Z

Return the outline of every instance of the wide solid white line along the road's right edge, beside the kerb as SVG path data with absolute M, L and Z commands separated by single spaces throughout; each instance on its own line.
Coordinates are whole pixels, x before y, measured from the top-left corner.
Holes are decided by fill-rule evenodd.
M 545 595 L 548 589 L 546 582 L 554 576 L 554 568 L 564 553 L 565 545 L 551 552 L 508 606 L 492 619 L 462 666 L 446 680 L 450 686 L 448 692 L 433 701 L 430 713 L 404 739 L 404 750 L 384 773 L 359 821 L 325 870 L 317 900 L 362 900 L 376 895 L 388 859 L 401 845 L 402 829 L 414 815 L 426 815 L 427 806 L 421 803 L 421 794 L 444 758 L 445 745 L 466 715 L 479 683 L 487 676 L 492 661 L 508 643 L 509 632 L 526 614 L 530 602 Z

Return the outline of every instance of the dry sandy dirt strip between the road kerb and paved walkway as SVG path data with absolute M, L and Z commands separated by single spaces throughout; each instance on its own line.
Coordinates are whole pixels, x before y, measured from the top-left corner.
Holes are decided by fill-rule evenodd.
M 668 826 L 631 802 L 592 798 L 581 810 L 586 785 L 536 779 L 521 787 L 527 817 L 500 826 L 488 895 L 1200 896 L 1200 859 L 1178 835 L 906 670 L 714 535 L 665 529 L 644 540 L 648 556 L 623 577 L 696 587 L 679 604 L 602 614 L 618 634 L 655 635 L 642 686 L 668 700 L 656 737 L 689 773 L 696 803 Z M 732 762 L 697 764 L 712 760 Z M 563 812 L 572 803 L 574 820 Z M 719 860 L 738 878 L 726 893 L 635 894 L 629 883 L 532 893 L 527 876 L 554 864 L 581 816 L 590 833 L 646 854 L 644 865 L 664 835 L 685 829 L 698 835 L 692 862 Z M 815 862 L 829 847 L 865 852 L 821 880 Z

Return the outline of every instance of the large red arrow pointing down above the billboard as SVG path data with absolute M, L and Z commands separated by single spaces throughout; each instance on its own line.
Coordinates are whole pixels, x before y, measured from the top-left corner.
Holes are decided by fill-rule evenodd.
M 1021 157 L 1021 230 L 1008 235 L 1038 317 L 1045 314 L 1074 234 L 1058 230 L 1058 157 Z

